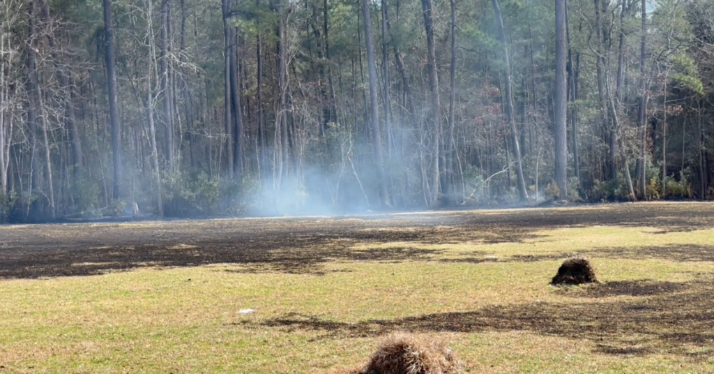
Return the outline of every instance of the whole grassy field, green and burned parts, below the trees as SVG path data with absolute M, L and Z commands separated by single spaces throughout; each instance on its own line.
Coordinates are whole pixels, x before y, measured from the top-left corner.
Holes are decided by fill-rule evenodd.
M 602 284 L 548 285 L 574 254 Z M 340 373 L 394 331 L 469 373 L 714 373 L 714 205 L 0 227 L 0 374 Z

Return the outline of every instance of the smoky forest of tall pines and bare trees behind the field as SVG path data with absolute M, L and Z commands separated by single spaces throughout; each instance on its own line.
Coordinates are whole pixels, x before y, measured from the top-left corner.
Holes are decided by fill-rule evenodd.
M 0 7 L 0 222 L 714 198 L 714 0 Z

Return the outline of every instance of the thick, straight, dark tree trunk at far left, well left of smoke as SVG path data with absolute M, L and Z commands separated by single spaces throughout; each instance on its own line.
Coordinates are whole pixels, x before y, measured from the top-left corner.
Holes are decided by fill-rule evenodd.
M 111 122 L 111 154 L 114 165 L 114 185 L 112 196 L 114 199 L 121 197 L 121 159 L 119 139 L 119 104 L 116 102 L 116 72 L 114 69 L 114 29 L 111 25 L 111 1 L 102 0 L 104 5 L 104 41 L 106 43 L 106 79 L 109 89 L 109 118 Z

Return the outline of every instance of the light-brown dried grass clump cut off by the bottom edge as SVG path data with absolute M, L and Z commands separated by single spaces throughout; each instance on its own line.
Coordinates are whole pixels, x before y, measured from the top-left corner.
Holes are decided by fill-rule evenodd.
M 438 342 L 406 333 L 390 335 L 369 363 L 350 374 L 461 374 L 461 362 Z

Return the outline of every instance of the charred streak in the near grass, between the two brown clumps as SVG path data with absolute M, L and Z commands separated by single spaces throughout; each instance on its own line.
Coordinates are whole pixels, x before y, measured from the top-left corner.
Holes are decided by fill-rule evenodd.
M 598 287 L 594 287 L 597 289 Z M 608 355 L 664 353 L 709 358 L 714 343 L 714 285 L 710 282 L 613 282 L 593 297 L 636 295 L 634 300 L 533 302 L 497 305 L 464 313 L 436 313 L 395 320 L 342 323 L 289 314 L 247 328 L 307 330 L 320 338 L 371 337 L 396 330 L 413 333 L 525 330 L 543 335 L 591 340 Z M 705 349 L 695 349 L 705 348 Z M 706 356 L 706 357 L 705 357 Z

